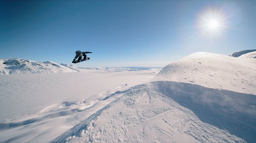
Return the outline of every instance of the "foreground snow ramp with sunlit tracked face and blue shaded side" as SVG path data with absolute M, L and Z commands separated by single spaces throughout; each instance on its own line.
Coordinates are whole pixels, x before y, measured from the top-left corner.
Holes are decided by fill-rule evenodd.
M 255 95 L 173 81 L 154 81 L 122 94 L 52 142 L 256 140 Z

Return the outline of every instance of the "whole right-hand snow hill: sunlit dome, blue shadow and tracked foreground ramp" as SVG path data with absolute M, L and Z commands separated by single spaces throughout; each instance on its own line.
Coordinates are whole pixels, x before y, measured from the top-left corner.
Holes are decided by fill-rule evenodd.
M 52 142 L 254 142 L 255 79 L 254 58 L 194 53 Z

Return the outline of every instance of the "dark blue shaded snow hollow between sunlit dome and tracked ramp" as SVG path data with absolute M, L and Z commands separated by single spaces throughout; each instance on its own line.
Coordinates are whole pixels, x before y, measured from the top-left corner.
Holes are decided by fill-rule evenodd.
M 153 81 L 156 90 L 192 110 L 205 123 L 247 142 L 256 141 L 256 95 L 175 81 Z

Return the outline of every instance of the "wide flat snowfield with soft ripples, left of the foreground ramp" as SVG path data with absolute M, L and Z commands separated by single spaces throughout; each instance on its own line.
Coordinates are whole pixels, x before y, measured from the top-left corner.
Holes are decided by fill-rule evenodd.
M 0 142 L 49 142 L 159 71 L 0 75 Z

